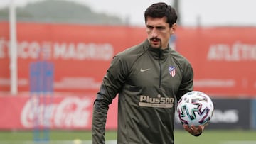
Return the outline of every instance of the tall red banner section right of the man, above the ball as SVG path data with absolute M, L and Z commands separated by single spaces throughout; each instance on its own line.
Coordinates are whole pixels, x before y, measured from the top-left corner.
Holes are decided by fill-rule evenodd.
M 176 46 L 195 72 L 195 89 L 256 96 L 256 28 L 180 28 Z

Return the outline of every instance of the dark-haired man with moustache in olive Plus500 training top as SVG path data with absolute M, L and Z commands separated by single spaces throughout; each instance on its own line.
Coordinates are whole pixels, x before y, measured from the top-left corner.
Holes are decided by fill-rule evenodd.
M 156 3 L 146 9 L 144 18 L 148 38 L 114 56 L 97 93 L 92 143 L 105 143 L 107 110 L 117 94 L 117 143 L 174 143 L 174 102 L 193 90 L 193 69 L 169 48 L 169 38 L 176 31 L 176 11 Z M 195 136 L 204 128 L 183 127 Z

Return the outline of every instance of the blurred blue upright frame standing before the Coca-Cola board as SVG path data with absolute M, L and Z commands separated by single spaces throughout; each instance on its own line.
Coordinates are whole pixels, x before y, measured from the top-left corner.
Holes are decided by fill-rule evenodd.
M 30 65 L 30 93 L 33 101 L 38 101 L 39 107 L 33 109 L 33 140 L 48 141 L 50 123 L 48 105 L 52 104 L 54 65 L 51 62 L 38 61 Z

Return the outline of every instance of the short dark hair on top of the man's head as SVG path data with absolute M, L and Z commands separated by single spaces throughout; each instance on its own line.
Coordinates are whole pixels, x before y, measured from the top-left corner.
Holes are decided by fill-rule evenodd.
M 166 16 L 166 23 L 169 23 L 170 27 L 176 23 L 178 18 L 175 9 L 164 2 L 152 4 L 146 9 L 144 13 L 145 23 L 148 16 L 152 18 L 163 18 Z

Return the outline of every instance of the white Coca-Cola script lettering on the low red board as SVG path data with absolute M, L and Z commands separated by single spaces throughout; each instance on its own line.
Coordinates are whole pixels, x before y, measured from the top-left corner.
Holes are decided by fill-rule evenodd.
M 52 98 L 48 98 L 52 99 Z M 21 111 L 21 124 L 25 128 L 48 126 L 55 128 L 84 128 L 89 123 L 91 100 L 78 96 L 64 97 L 58 103 L 42 102 L 31 97 Z

